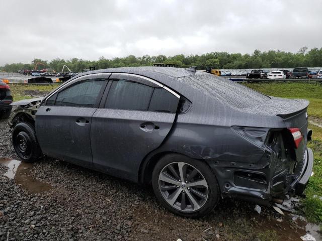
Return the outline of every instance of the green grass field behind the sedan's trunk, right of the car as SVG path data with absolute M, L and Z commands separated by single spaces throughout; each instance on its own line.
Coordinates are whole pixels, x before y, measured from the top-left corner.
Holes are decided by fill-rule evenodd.
M 245 83 L 247 87 L 270 96 L 307 99 L 308 114 L 322 118 L 322 86 L 309 83 Z

